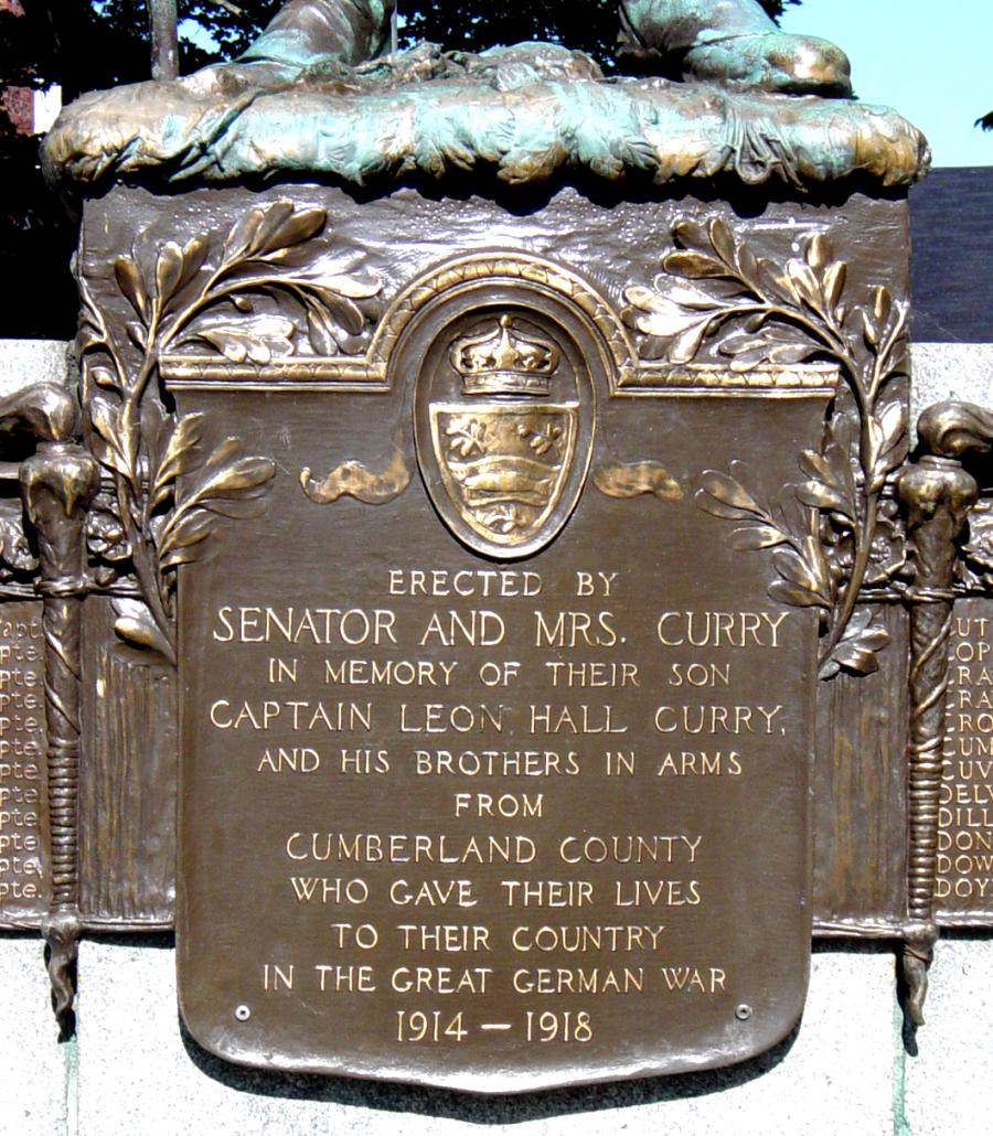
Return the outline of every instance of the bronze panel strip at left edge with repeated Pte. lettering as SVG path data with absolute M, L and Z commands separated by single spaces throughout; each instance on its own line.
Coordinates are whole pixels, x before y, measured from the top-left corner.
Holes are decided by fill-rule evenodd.
M 43 864 L 44 635 L 41 601 L 0 604 L 0 922 L 34 924 Z

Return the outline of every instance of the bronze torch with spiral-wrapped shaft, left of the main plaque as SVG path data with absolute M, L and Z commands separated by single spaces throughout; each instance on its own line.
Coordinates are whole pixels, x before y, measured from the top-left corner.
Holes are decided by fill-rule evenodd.
M 20 426 L 39 440 L 20 466 L 20 491 L 37 535 L 44 630 L 45 753 L 51 896 L 42 928 L 56 1018 L 72 1029 L 80 939 L 78 782 L 80 635 L 89 590 L 83 526 L 99 483 L 97 461 L 75 441 L 76 399 L 61 386 L 37 384 L 0 400 L 0 428 Z

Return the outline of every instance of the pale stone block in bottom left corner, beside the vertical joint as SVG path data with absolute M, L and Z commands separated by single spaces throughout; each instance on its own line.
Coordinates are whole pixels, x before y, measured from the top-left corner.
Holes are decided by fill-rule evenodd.
M 74 1044 L 58 1042 L 36 935 L 0 936 L 0 1136 L 65 1136 Z

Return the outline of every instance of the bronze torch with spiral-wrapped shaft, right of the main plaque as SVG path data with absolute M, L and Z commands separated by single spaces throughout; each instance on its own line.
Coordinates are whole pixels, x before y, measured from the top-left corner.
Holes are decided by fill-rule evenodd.
M 920 1026 L 927 968 L 937 939 L 934 886 L 957 542 L 979 493 L 960 459 L 970 450 L 990 449 L 993 415 L 970 403 L 941 402 L 920 416 L 918 435 L 929 452 L 901 474 L 899 493 L 913 566 L 913 584 L 907 592 L 910 750 L 903 975 L 908 1014 Z

